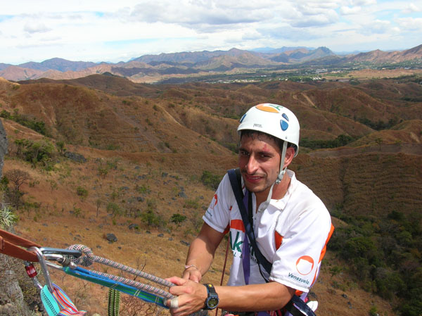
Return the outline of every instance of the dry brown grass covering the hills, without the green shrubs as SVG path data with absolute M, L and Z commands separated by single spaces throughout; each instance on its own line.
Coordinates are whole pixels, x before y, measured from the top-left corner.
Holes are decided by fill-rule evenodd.
M 194 238 L 193 222 L 203 214 L 213 194 L 212 189 L 200 183 L 200 175 L 208 170 L 222 176 L 236 165 L 236 155 L 218 144 L 237 140 L 234 132 L 237 120 L 228 117 L 241 115 L 246 108 L 262 101 L 289 104 L 303 122 L 302 134 L 309 137 L 322 134 L 321 138 L 333 139 L 338 134 L 367 135 L 355 148 L 309 154 L 302 154 L 305 151 L 301 150 L 295 158 L 292 168 L 298 178 L 321 196 L 328 208 L 341 203 L 347 212 L 359 215 L 368 210 L 377 214 L 391 208 L 406 212 L 422 204 L 419 197 L 422 161 L 416 150 L 421 146 L 420 113 L 417 106 L 412 108 L 399 103 L 402 102 L 399 98 L 395 102 L 402 106 L 392 106 L 377 94 L 369 94 L 369 87 L 362 86 L 362 92 L 339 82 L 178 87 L 132 83 L 123 86 L 122 94 L 118 94 L 117 83 L 122 84 L 122 80 L 115 82 L 107 78 L 97 86 L 97 79 L 91 77 L 74 83 L 87 84 L 91 89 L 52 83 L 21 84 L 16 89 L 12 84 L 0 82 L 3 109 L 11 113 L 18 109 L 20 113 L 44 120 L 51 127 L 53 137 L 74 143 L 66 144 L 68 151 L 87 158 L 86 163 L 60 158 L 53 172 L 34 169 L 13 157 L 13 139 L 39 140 L 41 135 L 11 120 L 2 120 L 11 153 L 6 158 L 4 172 L 14 168 L 29 172 L 32 184 L 23 187 L 24 198 L 38 203 L 28 210 L 18 210 L 20 221 L 16 231 L 44 246 L 65 248 L 70 244 L 85 244 L 96 255 L 143 267 L 144 271 L 160 277 L 180 275 L 188 249 L 180 241 Z M 96 89 L 105 89 L 107 93 Z M 417 94 L 420 88 L 409 89 Z M 128 97 L 130 93 L 133 95 Z M 338 111 L 342 111 L 347 108 L 349 96 L 354 97 L 354 110 L 362 107 L 362 113 L 373 115 L 373 120 L 389 118 L 392 113 L 418 120 L 403 122 L 395 130 L 373 132 L 352 118 L 330 112 L 327 100 L 337 101 Z M 388 113 L 384 113 L 385 109 Z M 373 143 L 376 138 L 383 139 L 379 151 L 378 145 Z M 98 148 L 87 146 L 89 141 L 97 142 Z M 404 144 L 399 146 L 399 141 L 412 141 L 411 146 L 416 151 L 410 151 Z M 395 144 L 386 145 L 388 143 Z M 119 146 L 119 149 L 104 150 L 108 145 Z M 389 146 L 396 147 L 387 152 Z M 110 167 L 108 173 L 102 177 L 98 168 L 107 166 Z M 87 198 L 77 195 L 78 187 L 87 189 Z M 181 192 L 187 197 L 181 197 Z M 97 216 L 98 200 L 101 203 Z M 186 201 L 194 201 L 198 207 L 186 208 Z M 139 217 L 122 214 L 113 219 L 106 210 L 111 202 L 123 210 L 141 211 L 151 202 L 162 222 L 168 222 L 174 213 L 186 215 L 188 220 L 180 228 L 173 224 L 148 228 Z M 131 223 L 141 229 L 130 230 Z M 104 239 L 106 233 L 115 234 L 118 241 L 109 244 Z M 219 283 L 223 258 L 224 246 L 217 251 L 205 282 Z M 313 289 L 320 302 L 318 315 L 366 316 L 372 305 L 378 307 L 380 315 L 393 315 L 388 303 L 359 289 L 357 280 L 345 272 L 331 277 L 329 268 L 345 267 L 344 262 L 328 252 L 324 263 L 326 267 Z M 107 289 L 76 281 L 59 272 L 53 272 L 53 280 L 63 286 L 79 308 L 91 314 L 106 315 Z

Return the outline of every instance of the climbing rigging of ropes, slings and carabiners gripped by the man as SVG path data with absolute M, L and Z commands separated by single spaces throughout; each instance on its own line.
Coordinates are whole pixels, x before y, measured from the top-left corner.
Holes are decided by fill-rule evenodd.
M 28 249 L 25 250 L 24 248 Z M 27 239 L 23 239 L 22 237 L 0 229 L 0 253 L 11 255 L 25 261 L 27 274 L 30 278 L 32 278 L 34 285 L 41 290 L 41 300 L 43 301 L 44 306 L 47 307 L 46 310 L 49 315 L 84 315 L 86 312 L 78 311 L 63 290 L 51 282 L 47 267 L 54 267 L 55 269 L 62 270 L 66 274 L 107 286 L 110 289 L 114 289 L 122 293 L 127 293 L 135 296 L 136 298 L 141 298 L 143 301 L 148 303 L 155 303 L 163 308 L 168 308 L 167 301 L 169 300 L 172 308 L 177 306 L 177 296 L 173 296 L 170 292 L 158 287 L 136 282 L 132 279 L 118 277 L 113 274 L 78 267 L 77 265 L 87 267 L 96 262 L 108 265 L 109 267 L 113 267 L 117 270 L 134 274 L 162 286 L 174 286 L 172 282 L 160 277 L 155 277 L 153 274 L 136 270 L 113 260 L 98 257 L 92 253 L 90 248 L 84 245 L 72 245 L 68 249 L 41 248 L 38 244 L 35 244 L 32 241 L 28 241 Z M 60 265 L 52 263 L 51 260 L 56 261 Z M 38 262 L 41 265 L 44 278 L 46 279 L 45 286 L 41 286 L 37 280 L 37 271 L 32 265 L 34 262 Z M 60 313 L 57 313 L 58 311 L 60 311 Z M 191 315 L 203 316 L 207 315 L 207 311 L 200 310 L 199 312 L 195 312 Z

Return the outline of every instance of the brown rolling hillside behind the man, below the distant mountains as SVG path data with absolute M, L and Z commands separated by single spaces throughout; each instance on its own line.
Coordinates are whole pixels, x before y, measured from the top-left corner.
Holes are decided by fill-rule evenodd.
M 388 297 L 376 276 L 390 273 L 392 258 L 401 271 L 408 267 L 414 276 L 414 263 L 421 263 L 421 244 L 416 243 L 422 209 L 420 82 L 408 77 L 359 84 L 149 85 L 112 75 L 0 80 L 1 120 L 9 140 L 4 173 L 19 169 L 30 175 L 22 187 L 25 203 L 17 211 L 15 229 L 45 246 L 87 244 L 98 255 L 144 265 L 146 272 L 160 277 L 179 275 L 185 244 L 195 236 L 214 192 L 201 181 L 204 172 L 222 177 L 236 165 L 236 127 L 245 110 L 267 101 L 281 103 L 297 113 L 301 141 L 309 145 L 301 146 L 292 169 L 326 203 L 338 227 L 336 252 L 328 248 L 313 289 L 320 302 L 317 315 L 366 316 L 373 306 L 380 315 L 396 315 L 392 306 L 402 297 Z M 348 144 L 328 147 L 339 137 L 350 137 Z M 51 158 L 25 161 L 20 139 L 35 141 L 44 151 L 49 144 L 56 149 Z M 60 144 L 86 160 L 66 158 Z M 323 147 L 312 148 L 316 145 Z M 170 222 L 175 213 L 187 217 L 180 227 Z M 145 222 L 148 214 L 155 222 Z M 393 215 L 396 224 L 390 225 Z M 414 230 L 403 218 L 413 220 Z M 129 229 L 130 224 L 139 229 Z M 355 224 L 364 232 L 354 229 Z M 338 251 L 347 227 L 354 235 L 345 241 L 372 234 L 372 229 L 375 245 L 378 238 L 388 240 L 383 244 L 390 251 L 386 265 L 368 261 L 376 270 L 357 277 L 354 263 L 359 257 Z M 103 238 L 109 232 L 117 242 L 108 244 Z M 223 257 L 224 245 L 205 281 L 219 282 Z M 77 298 L 79 308 L 106 315 L 104 289 L 56 272 L 53 278 Z

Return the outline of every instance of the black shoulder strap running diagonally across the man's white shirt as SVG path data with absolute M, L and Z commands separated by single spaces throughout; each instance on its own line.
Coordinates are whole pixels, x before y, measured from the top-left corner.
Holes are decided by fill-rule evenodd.
M 252 234 L 252 227 L 250 225 L 250 221 L 248 220 L 248 211 L 243 204 L 243 191 L 241 185 L 241 172 L 239 168 L 231 169 L 227 172 L 229 174 L 231 189 L 233 189 L 234 196 L 236 197 L 236 201 L 238 203 L 238 208 L 241 211 L 243 225 L 245 225 L 245 231 L 248 234 L 248 238 L 252 248 L 255 251 L 255 257 L 258 260 L 258 264 L 261 264 L 264 269 L 271 274 L 271 267 L 272 264 L 269 263 L 267 258 L 262 255 L 260 248 L 258 248 L 257 243 L 255 241 L 255 236 Z M 293 295 L 292 299 L 288 301 L 286 306 L 284 306 L 288 312 L 290 312 L 293 316 L 316 316 L 314 311 L 309 308 L 307 303 L 302 301 L 299 296 Z

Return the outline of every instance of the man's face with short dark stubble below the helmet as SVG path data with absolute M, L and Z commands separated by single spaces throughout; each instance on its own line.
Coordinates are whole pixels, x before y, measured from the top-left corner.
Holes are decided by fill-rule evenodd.
M 280 148 L 271 137 L 265 134 L 243 135 L 238 165 L 246 188 L 255 194 L 268 194 L 279 175 L 280 157 Z

